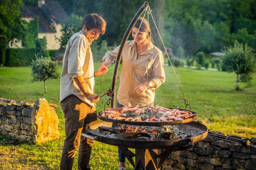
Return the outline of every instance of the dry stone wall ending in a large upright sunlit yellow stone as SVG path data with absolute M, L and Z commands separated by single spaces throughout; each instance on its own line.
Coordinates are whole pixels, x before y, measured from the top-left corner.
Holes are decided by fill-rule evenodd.
M 56 104 L 40 98 L 34 104 L 0 98 L 0 133 L 19 141 L 45 142 L 59 137 Z

